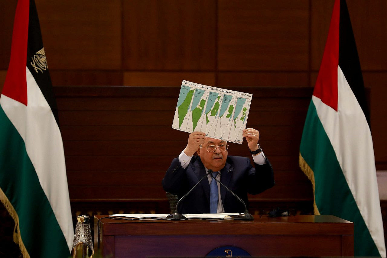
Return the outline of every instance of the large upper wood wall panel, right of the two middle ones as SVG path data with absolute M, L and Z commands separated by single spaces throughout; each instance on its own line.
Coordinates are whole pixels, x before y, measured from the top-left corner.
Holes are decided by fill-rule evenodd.
M 218 3 L 219 70 L 308 70 L 309 1 Z

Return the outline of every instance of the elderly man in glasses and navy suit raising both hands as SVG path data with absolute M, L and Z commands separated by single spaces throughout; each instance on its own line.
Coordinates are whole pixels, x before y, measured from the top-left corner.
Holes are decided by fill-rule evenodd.
M 258 194 L 274 186 L 271 164 L 258 144 L 259 132 L 243 130 L 254 161 L 246 157 L 229 156 L 225 140 L 209 138 L 203 132 L 188 136 L 187 147 L 175 159 L 163 178 L 163 188 L 180 199 L 211 169 L 221 181 L 248 207 L 247 193 Z M 197 155 L 194 156 L 195 152 Z M 208 174 L 179 204 L 181 214 L 244 212 L 243 204 Z

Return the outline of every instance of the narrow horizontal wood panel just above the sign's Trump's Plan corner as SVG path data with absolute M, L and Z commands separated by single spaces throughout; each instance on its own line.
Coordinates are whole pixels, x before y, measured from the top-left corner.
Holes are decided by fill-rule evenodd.
M 307 87 L 307 72 L 219 72 L 218 87 Z

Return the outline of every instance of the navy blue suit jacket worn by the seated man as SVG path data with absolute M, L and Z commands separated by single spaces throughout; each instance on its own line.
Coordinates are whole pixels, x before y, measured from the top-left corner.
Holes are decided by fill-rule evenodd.
M 180 200 L 205 174 L 205 168 L 199 156 L 193 156 L 185 169 L 179 159 L 175 158 L 163 178 L 163 188 L 177 195 Z M 255 164 L 253 167 L 250 159 L 246 157 L 228 156 L 220 174 L 220 181 L 238 195 L 246 203 L 247 208 L 247 193 L 255 195 L 274 186 L 273 169 L 267 159 L 266 164 Z M 240 200 L 222 185 L 220 188 L 224 212 L 245 212 Z M 209 196 L 210 185 L 206 177 L 179 203 L 178 212 L 180 214 L 210 213 Z

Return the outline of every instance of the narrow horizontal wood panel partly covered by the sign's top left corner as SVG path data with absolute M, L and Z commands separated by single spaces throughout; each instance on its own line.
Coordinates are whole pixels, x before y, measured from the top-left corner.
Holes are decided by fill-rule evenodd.
M 215 85 L 215 72 L 124 72 L 123 85 L 180 87 L 183 80 Z

